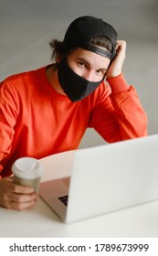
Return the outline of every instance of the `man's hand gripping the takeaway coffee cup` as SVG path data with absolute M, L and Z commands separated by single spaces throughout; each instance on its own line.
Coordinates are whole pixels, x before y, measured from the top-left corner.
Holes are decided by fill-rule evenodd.
M 0 205 L 4 208 L 23 210 L 37 202 L 37 193 L 32 187 L 13 183 L 13 177 L 0 179 Z

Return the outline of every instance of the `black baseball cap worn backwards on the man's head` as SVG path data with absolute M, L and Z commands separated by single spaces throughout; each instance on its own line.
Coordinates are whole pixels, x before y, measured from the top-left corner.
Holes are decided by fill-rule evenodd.
M 90 44 L 90 39 L 98 36 L 108 37 L 111 40 L 111 52 Z M 85 48 L 108 59 L 113 59 L 116 53 L 117 36 L 116 30 L 101 18 L 80 16 L 69 25 L 64 42 L 69 46 Z

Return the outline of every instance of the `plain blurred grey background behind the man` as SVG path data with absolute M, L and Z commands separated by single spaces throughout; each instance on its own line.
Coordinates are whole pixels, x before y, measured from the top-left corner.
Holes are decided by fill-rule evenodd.
M 158 0 L 0 0 L 0 80 L 50 63 L 49 40 L 78 16 L 98 16 L 127 41 L 123 73 L 158 133 Z M 80 146 L 102 144 L 93 131 Z

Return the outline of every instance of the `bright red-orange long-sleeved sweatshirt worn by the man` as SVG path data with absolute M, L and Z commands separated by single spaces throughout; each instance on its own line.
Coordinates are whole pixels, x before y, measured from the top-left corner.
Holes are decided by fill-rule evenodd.
M 79 146 L 88 127 L 113 143 L 147 135 L 147 118 L 136 91 L 122 74 L 102 82 L 87 98 L 71 102 L 53 89 L 46 67 L 0 83 L 0 171 L 22 156 L 37 159 Z

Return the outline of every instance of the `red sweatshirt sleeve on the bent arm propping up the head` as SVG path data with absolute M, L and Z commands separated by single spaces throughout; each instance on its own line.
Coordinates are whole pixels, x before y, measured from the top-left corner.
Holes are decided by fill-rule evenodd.
M 147 132 L 147 116 L 138 94 L 123 74 L 107 80 L 111 89 L 102 92 L 91 119 L 91 126 L 109 143 L 143 137 Z M 104 91 L 108 86 L 105 84 Z

